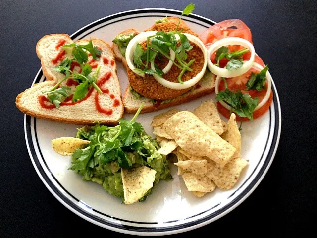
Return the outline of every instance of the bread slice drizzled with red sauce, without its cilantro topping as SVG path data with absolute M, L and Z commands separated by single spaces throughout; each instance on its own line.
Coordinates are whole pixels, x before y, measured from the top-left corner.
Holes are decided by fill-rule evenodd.
M 42 92 L 49 91 L 56 83 L 62 80 L 65 75 L 54 70 L 60 61 L 56 64 L 52 63 L 52 59 L 60 52 L 60 48 L 56 49 L 59 40 L 65 40 L 65 44 L 71 44 L 73 41 L 66 34 L 52 34 L 44 36 L 36 46 L 36 52 L 41 59 L 43 74 L 46 81 L 33 85 L 33 87 L 25 90 L 16 97 L 16 106 L 23 113 L 32 117 L 48 119 L 52 121 L 72 123 L 72 124 L 117 124 L 123 115 L 123 104 L 121 101 L 121 90 L 119 80 L 116 74 L 116 64 L 114 63 L 114 54 L 111 47 L 100 39 L 92 39 L 93 45 L 102 50 L 101 57 L 94 64 L 98 64 L 101 68 L 97 77 L 97 82 L 105 76 L 107 72 L 111 73 L 110 78 L 101 85 L 102 88 L 107 88 L 109 93 L 98 94 L 93 88 L 90 96 L 86 100 L 82 100 L 74 105 L 63 105 L 59 108 L 46 109 L 41 106 L 39 96 Z M 89 40 L 79 40 L 77 44 L 87 44 Z M 69 54 L 69 55 L 67 55 Z M 69 58 L 71 53 L 66 53 Z M 104 62 L 104 58 L 105 60 Z M 92 59 L 88 58 L 88 62 Z M 107 61 L 107 62 L 106 62 Z M 111 65 L 112 61 L 112 65 Z M 95 72 L 93 68 L 91 74 Z M 66 86 L 64 81 L 60 86 Z M 75 89 L 75 86 L 71 86 Z M 112 95 L 113 96 L 112 96 Z M 97 110 L 97 102 L 102 109 L 111 109 L 112 114 L 108 115 Z M 119 105 L 114 106 L 114 100 Z

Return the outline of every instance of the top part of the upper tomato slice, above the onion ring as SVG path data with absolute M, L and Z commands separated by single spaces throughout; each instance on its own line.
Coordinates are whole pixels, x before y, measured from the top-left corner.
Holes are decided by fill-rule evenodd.
M 238 19 L 221 21 L 205 30 L 199 37 L 207 46 L 225 37 L 240 37 L 252 43 L 250 28 Z

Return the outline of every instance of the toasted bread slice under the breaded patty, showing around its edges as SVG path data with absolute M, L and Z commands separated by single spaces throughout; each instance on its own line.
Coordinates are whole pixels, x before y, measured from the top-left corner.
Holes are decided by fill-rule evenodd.
M 168 22 L 162 22 L 162 23 L 157 23 L 154 24 L 152 27 L 149 29 L 146 29 L 145 31 L 173 31 L 175 30 L 177 23 L 179 21 L 179 18 L 177 17 L 167 17 Z M 178 29 L 183 29 L 183 32 L 187 32 L 189 34 L 198 36 L 197 33 L 193 32 L 186 24 L 185 21 L 181 20 L 180 24 L 178 26 Z M 119 34 L 130 34 L 131 32 L 135 32 L 135 29 L 127 29 L 123 32 L 120 32 Z M 121 61 L 125 70 L 128 71 L 128 66 L 125 58 L 122 56 L 119 47 L 116 44 L 112 44 L 112 49 L 115 54 L 115 59 L 118 61 Z M 205 76 L 201 79 L 201 81 L 198 83 L 199 86 L 196 86 L 196 89 L 190 90 L 186 93 L 184 93 L 181 96 L 178 96 L 172 100 L 168 100 L 164 103 L 153 103 L 153 100 L 151 98 L 147 97 L 140 97 L 136 98 L 130 90 L 130 85 L 128 85 L 125 94 L 123 96 L 123 105 L 124 105 L 124 111 L 127 113 L 135 113 L 141 103 L 145 103 L 145 106 L 143 107 L 141 113 L 148 113 L 148 112 L 153 112 L 157 111 L 160 109 L 164 109 L 167 107 L 171 106 L 176 106 L 179 104 L 183 104 L 189 101 L 192 101 L 194 99 L 197 99 L 199 97 L 202 97 L 206 94 L 210 94 L 214 91 L 214 82 L 215 82 L 215 77 L 214 75 L 206 70 Z

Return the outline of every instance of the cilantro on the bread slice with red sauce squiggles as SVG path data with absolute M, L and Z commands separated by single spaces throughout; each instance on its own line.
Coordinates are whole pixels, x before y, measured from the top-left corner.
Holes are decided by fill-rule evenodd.
M 54 68 L 55 71 L 64 74 L 65 77 L 62 80 L 60 80 L 49 91 L 43 92 L 43 94 L 47 95 L 49 101 L 53 103 L 56 106 L 56 108 L 58 108 L 59 104 L 70 96 L 70 87 L 63 86 L 59 88 L 61 83 L 63 83 L 66 79 L 73 79 L 74 81 L 79 83 L 79 85 L 76 87 L 74 91 L 72 102 L 76 102 L 78 100 L 83 99 L 87 95 L 88 89 L 91 86 L 93 86 L 100 94 L 103 93 L 96 84 L 100 66 L 97 67 L 95 73 L 91 76 L 90 74 L 92 72 L 92 67 L 89 64 L 87 64 L 87 51 L 91 53 L 93 59 L 95 60 L 99 59 L 101 51 L 93 45 L 91 39 L 87 45 L 79 45 L 76 43 L 72 43 L 63 46 L 64 49 L 69 49 L 70 47 L 73 47 L 73 50 L 71 52 L 73 58 L 70 59 L 66 57 L 56 68 Z M 79 63 L 82 70 L 81 73 L 74 73 L 70 70 L 71 63 L 73 61 L 77 61 Z

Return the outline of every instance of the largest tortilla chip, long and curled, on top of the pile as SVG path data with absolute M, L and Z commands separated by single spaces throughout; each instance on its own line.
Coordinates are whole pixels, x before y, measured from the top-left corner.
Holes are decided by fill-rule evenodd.
M 168 132 L 183 150 L 195 156 L 207 156 L 221 167 L 232 159 L 236 151 L 191 112 L 176 113 L 163 124 L 163 130 Z

